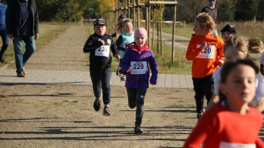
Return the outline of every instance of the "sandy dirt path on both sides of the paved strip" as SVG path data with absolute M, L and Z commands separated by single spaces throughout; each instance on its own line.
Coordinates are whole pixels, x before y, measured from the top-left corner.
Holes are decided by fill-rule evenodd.
M 88 34 L 70 27 L 37 50 L 26 68 L 87 71 L 82 48 Z M 111 87 L 107 117 L 93 110 L 91 86 L 0 85 L 0 148 L 181 148 L 197 123 L 193 96 L 188 89 L 148 89 L 144 133 L 134 134 L 135 109 L 125 87 Z

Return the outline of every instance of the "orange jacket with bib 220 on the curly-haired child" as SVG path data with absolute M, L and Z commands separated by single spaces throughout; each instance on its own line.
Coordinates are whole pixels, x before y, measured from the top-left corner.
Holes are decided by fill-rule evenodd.
M 207 46 L 200 51 L 199 48 L 203 41 L 207 43 Z M 219 68 L 217 64 L 219 59 L 224 60 L 223 46 L 223 40 L 211 33 L 207 33 L 204 37 L 192 35 L 186 58 L 193 60 L 192 76 L 194 78 L 202 78 L 215 73 Z

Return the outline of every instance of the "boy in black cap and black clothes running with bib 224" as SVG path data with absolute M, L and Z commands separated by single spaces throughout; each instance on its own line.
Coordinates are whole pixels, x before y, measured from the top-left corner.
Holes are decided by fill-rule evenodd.
M 103 115 L 110 116 L 110 78 L 112 73 L 110 50 L 115 58 L 120 59 L 120 56 L 118 55 L 117 46 L 113 38 L 105 34 L 107 30 L 105 20 L 96 19 L 93 26 L 95 33 L 88 37 L 83 48 L 85 53 L 90 53 L 90 77 L 95 95 L 93 108 L 95 111 L 100 110 L 101 95 L 103 94 L 103 102 L 105 105 Z

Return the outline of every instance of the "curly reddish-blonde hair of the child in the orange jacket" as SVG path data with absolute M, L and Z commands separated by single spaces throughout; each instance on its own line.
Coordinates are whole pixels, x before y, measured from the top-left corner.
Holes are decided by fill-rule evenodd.
M 202 12 L 198 14 L 195 21 L 200 23 L 201 28 L 206 28 L 206 32 L 212 32 L 216 29 L 216 23 L 208 13 Z

